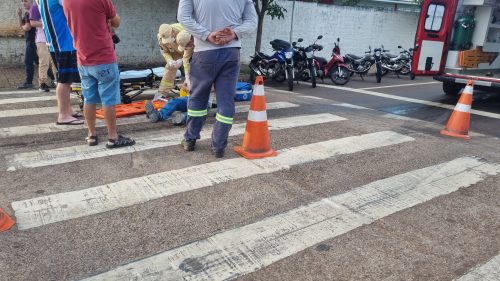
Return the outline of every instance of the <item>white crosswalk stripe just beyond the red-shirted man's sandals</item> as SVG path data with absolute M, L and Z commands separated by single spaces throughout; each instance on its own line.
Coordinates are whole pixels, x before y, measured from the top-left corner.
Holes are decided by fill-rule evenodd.
M 276 103 L 270 103 L 268 105 L 268 108 L 281 109 L 281 108 L 291 108 L 297 106 L 298 105 L 296 104 L 288 102 L 276 102 Z M 249 109 L 248 105 L 238 106 L 236 108 L 236 112 L 246 112 L 248 111 L 248 109 Z M 146 117 L 144 117 L 144 115 L 133 116 L 129 118 L 119 118 L 117 120 L 118 125 L 131 125 L 144 122 L 148 122 Z M 73 130 L 81 130 L 84 127 L 85 125 L 56 125 L 55 123 L 6 127 L 6 128 L 0 128 L 0 138 L 20 137 L 20 136 L 47 134 L 55 132 L 67 132 Z M 96 127 L 105 127 L 105 124 L 102 120 L 97 120 Z

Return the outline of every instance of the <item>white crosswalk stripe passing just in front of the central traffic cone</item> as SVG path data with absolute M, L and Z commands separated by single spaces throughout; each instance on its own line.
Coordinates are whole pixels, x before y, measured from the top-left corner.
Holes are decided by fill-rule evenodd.
M 229 159 L 123 180 L 74 192 L 13 202 L 19 229 L 89 216 L 229 180 L 287 170 L 290 166 L 414 140 L 384 131 L 284 149 L 277 157 Z

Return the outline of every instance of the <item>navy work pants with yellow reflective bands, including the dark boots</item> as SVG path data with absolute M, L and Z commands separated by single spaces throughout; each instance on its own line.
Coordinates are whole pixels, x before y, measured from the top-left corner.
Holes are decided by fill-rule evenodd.
M 192 84 L 188 99 L 187 130 L 184 149 L 194 150 L 196 140 L 205 122 L 207 103 L 212 85 L 217 98 L 216 122 L 212 132 L 212 151 L 218 158 L 224 156 L 227 137 L 233 124 L 234 94 L 240 71 L 240 49 L 221 48 L 195 52 L 191 61 Z

